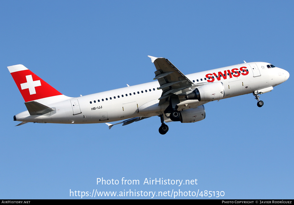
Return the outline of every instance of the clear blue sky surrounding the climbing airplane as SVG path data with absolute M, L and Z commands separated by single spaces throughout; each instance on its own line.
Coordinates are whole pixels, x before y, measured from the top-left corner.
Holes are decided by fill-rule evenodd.
M 225 193 L 210 199 L 293 199 L 293 6 L 293 1 L 1 1 L 0 198 L 199 189 Z M 14 127 L 13 116 L 26 106 L 7 66 L 23 64 L 76 97 L 151 82 L 155 67 L 147 55 L 168 58 L 184 74 L 245 60 L 271 63 L 290 78 L 260 96 L 262 108 L 251 94 L 211 102 L 206 119 L 168 123 L 166 135 L 158 133 L 159 117 L 111 130 L 105 124 Z M 97 185 L 102 177 L 138 179 L 140 185 Z M 146 178 L 198 184 L 146 185 Z

